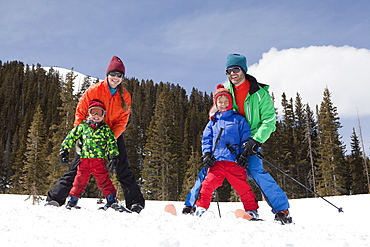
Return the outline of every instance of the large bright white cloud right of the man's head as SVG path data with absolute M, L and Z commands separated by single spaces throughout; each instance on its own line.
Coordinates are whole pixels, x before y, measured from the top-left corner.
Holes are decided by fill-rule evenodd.
M 281 95 L 295 99 L 297 92 L 311 109 L 320 105 L 329 88 L 340 117 L 370 115 L 370 50 L 350 46 L 310 46 L 270 49 L 248 73 L 269 84 L 281 106 Z

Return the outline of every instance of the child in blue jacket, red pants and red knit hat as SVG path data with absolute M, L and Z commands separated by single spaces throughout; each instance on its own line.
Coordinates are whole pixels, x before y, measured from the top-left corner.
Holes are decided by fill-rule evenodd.
M 250 128 L 246 119 L 231 109 L 229 90 L 220 84 L 213 97 L 217 112 L 212 115 L 202 137 L 203 163 L 208 174 L 202 182 L 195 215 L 201 216 L 209 208 L 213 191 L 225 178 L 240 196 L 245 211 L 252 214 L 258 209 L 257 199 L 247 182 L 245 168 L 236 163 L 243 152 L 243 143 L 250 138 Z

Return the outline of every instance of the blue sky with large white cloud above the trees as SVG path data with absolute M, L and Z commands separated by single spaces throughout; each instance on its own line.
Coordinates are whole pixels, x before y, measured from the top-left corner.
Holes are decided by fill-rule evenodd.
M 343 141 L 349 145 L 359 119 L 370 153 L 368 0 L 3 0 L 0 13 L 3 62 L 103 79 L 117 55 L 127 77 L 178 84 L 188 94 L 214 91 L 226 80 L 227 55 L 241 53 L 248 73 L 277 97 L 299 92 L 315 109 L 328 87 Z

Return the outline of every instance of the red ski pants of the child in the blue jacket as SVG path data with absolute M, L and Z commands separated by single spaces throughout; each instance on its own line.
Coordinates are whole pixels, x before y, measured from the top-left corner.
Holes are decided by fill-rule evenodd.
M 214 166 L 208 169 L 196 205 L 208 209 L 213 191 L 222 185 L 225 178 L 240 196 L 245 211 L 258 209 L 257 199 L 247 182 L 245 169 L 231 161 L 216 161 Z

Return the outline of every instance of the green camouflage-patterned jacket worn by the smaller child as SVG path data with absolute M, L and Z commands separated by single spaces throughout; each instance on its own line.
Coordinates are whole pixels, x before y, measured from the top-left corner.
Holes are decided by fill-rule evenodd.
M 80 158 L 118 157 L 117 141 L 112 130 L 104 122 L 94 129 L 88 121 L 83 121 L 68 133 L 62 143 L 62 149 L 70 152 L 78 139 L 82 142 Z

